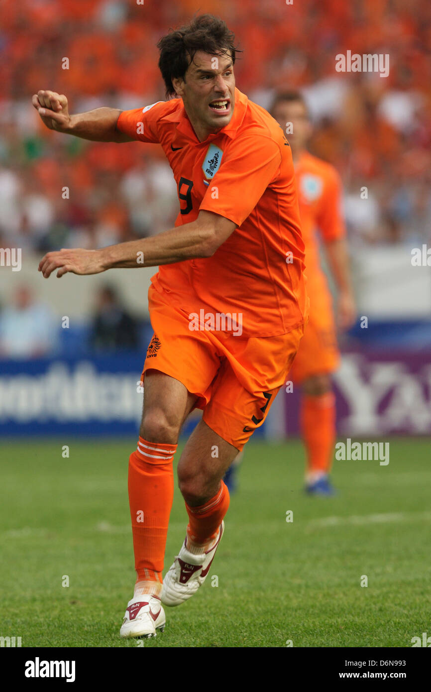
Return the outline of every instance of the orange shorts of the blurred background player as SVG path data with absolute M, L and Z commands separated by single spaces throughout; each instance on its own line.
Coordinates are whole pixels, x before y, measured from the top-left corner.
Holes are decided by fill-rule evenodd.
M 289 378 L 300 384 L 313 375 L 334 372 L 340 362 L 336 325 L 329 291 L 310 295 L 309 322 Z

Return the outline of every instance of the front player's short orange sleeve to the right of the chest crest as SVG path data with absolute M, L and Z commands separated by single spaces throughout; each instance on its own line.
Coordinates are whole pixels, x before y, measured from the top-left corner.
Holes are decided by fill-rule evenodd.
M 282 155 L 270 137 L 247 136 L 234 140 L 225 156 L 199 208 L 241 226 L 277 174 Z

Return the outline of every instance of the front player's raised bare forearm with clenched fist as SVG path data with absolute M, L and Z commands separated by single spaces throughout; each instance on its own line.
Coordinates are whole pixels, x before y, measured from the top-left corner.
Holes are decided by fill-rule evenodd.
M 116 128 L 121 113 L 118 108 L 96 108 L 94 111 L 71 115 L 66 96 L 46 89 L 33 94 L 32 103 L 48 129 L 95 142 L 132 141 Z

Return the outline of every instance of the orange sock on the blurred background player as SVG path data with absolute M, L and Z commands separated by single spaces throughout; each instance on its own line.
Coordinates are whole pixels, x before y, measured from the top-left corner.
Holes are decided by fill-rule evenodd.
M 336 403 L 333 392 L 302 396 L 301 428 L 306 446 L 307 478 L 329 473 L 336 440 Z

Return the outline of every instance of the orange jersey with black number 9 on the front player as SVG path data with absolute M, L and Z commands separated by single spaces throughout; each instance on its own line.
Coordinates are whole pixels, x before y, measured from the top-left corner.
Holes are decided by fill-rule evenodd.
M 237 224 L 212 257 L 165 264 L 152 285 L 185 311 L 240 313 L 244 336 L 302 325 L 308 301 L 291 148 L 278 123 L 235 89 L 230 123 L 203 142 L 181 98 L 123 111 L 118 130 L 160 143 L 174 172 L 175 226 L 208 210 Z

